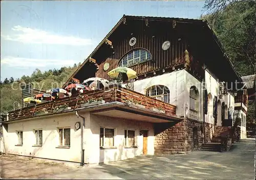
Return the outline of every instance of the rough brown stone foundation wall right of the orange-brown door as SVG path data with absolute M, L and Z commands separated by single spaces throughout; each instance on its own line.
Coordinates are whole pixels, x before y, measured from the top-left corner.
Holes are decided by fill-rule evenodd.
M 174 123 L 156 123 L 155 154 L 178 154 L 198 150 L 204 142 L 203 122 L 184 119 Z M 210 141 L 212 125 L 205 123 L 206 140 Z

